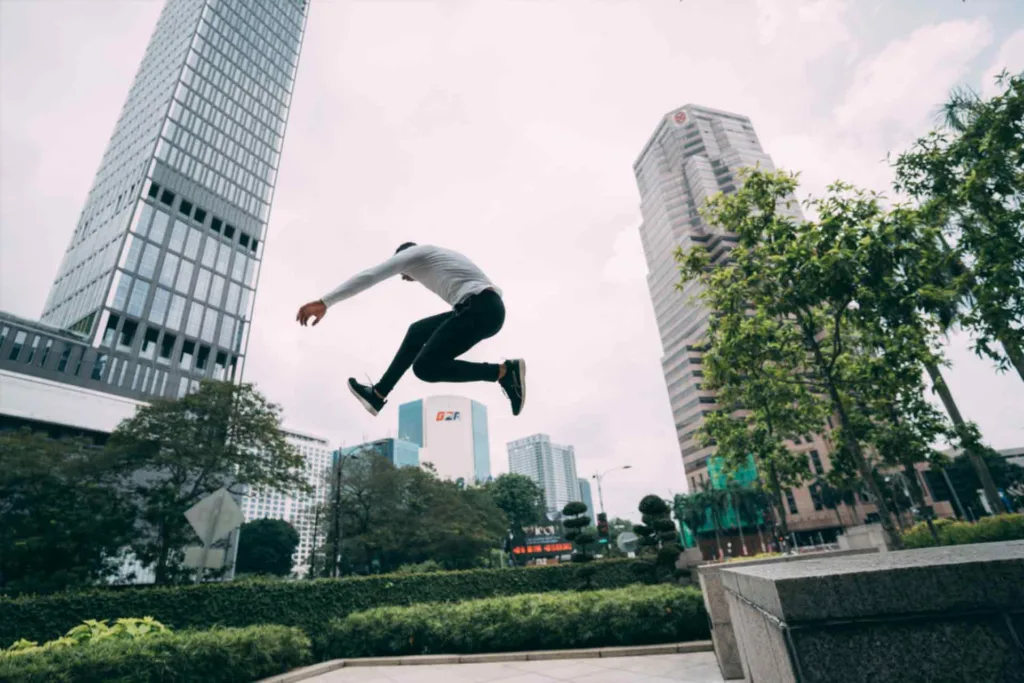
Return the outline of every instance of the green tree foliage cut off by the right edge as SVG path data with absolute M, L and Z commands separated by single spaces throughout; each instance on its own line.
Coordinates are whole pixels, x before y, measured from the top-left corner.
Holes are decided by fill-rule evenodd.
M 1024 380 L 1024 73 L 997 81 L 1002 92 L 987 100 L 952 94 L 945 125 L 897 160 L 896 188 L 944 228 L 957 265 L 956 323 L 979 354 Z

